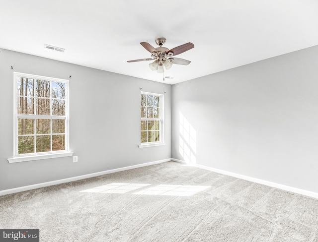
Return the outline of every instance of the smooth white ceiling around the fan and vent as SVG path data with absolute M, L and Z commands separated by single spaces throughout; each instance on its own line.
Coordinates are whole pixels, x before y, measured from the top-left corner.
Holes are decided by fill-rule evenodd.
M 318 45 L 318 0 L 0 0 L 0 48 L 163 82 L 139 43 L 192 42 L 174 84 Z M 66 49 L 60 53 L 44 44 Z

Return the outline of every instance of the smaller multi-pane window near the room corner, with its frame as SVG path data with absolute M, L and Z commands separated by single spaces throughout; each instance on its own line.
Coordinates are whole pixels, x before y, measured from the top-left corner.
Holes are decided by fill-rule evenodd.
M 163 95 L 141 93 L 141 146 L 163 142 Z

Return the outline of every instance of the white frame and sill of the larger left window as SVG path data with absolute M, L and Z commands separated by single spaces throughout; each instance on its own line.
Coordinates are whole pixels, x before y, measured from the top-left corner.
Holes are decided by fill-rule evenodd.
M 65 116 L 54 116 L 54 115 L 37 115 L 37 114 L 19 114 L 18 115 L 18 77 L 26 77 L 32 79 L 39 79 L 39 80 L 46 80 L 51 82 L 62 82 L 65 83 L 66 86 L 66 93 L 65 93 Z M 41 159 L 49 159 L 49 158 L 58 158 L 58 157 L 66 157 L 72 156 L 73 152 L 70 152 L 70 144 L 69 144 L 69 80 L 60 79 L 60 78 L 53 78 L 53 77 L 46 77 L 46 76 L 39 76 L 33 74 L 26 74 L 20 72 L 13 72 L 13 158 L 9 158 L 9 163 L 14 162 L 23 162 L 23 161 L 32 161 L 32 160 L 41 160 Z M 35 97 L 34 97 L 35 98 Z M 52 99 L 52 97 L 50 97 Z M 52 102 L 51 102 L 52 103 Z M 18 154 L 18 119 L 19 118 L 37 118 L 37 119 L 50 119 L 51 123 L 53 119 L 64 119 L 65 120 L 65 150 L 62 151 L 47 151 L 47 152 L 38 152 L 36 150 L 34 153 L 28 154 Z M 51 125 L 52 129 L 52 125 Z M 52 135 L 52 130 L 51 130 Z M 35 134 L 34 134 L 35 136 Z M 51 140 L 52 142 L 52 140 Z M 36 145 L 36 144 L 34 144 Z

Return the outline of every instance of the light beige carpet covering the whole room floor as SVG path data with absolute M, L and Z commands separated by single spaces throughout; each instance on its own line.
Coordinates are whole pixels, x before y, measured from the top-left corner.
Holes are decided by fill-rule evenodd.
M 318 199 L 166 162 L 0 197 L 41 242 L 318 242 Z

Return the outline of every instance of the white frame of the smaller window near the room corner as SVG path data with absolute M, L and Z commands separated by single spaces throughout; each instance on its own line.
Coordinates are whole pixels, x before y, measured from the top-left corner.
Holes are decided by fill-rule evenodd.
M 145 142 L 142 143 L 140 142 L 139 148 L 145 148 L 145 147 L 153 147 L 153 146 L 160 146 L 160 145 L 165 145 L 164 143 L 164 136 L 163 136 L 163 127 L 164 127 L 164 119 L 163 119 L 163 114 L 164 114 L 164 95 L 163 94 L 159 94 L 159 93 L 152 93 L 152 92 L 140 92 L 140 101 L 141 101 L 141 97 L 142 94 L 144 95 L 152 95 L 152 96 L 159 96 L 160 100 L 159 100 L 159 119 L 158 118 L 142 118 L 141 117 L 141 109 L 139 109 L 139 113 L 140 113 L 140 135 L 141 135 L 141 121 L 159 121 L 159 141 L 155 141 L 155 142 Z M 141 104 L 141 103 L 140 103 Z M 139 105 L 139 107 L 141 108 L 141 105 Z M 140 141 L 141 141 L 141 136 L 140 136 Z

